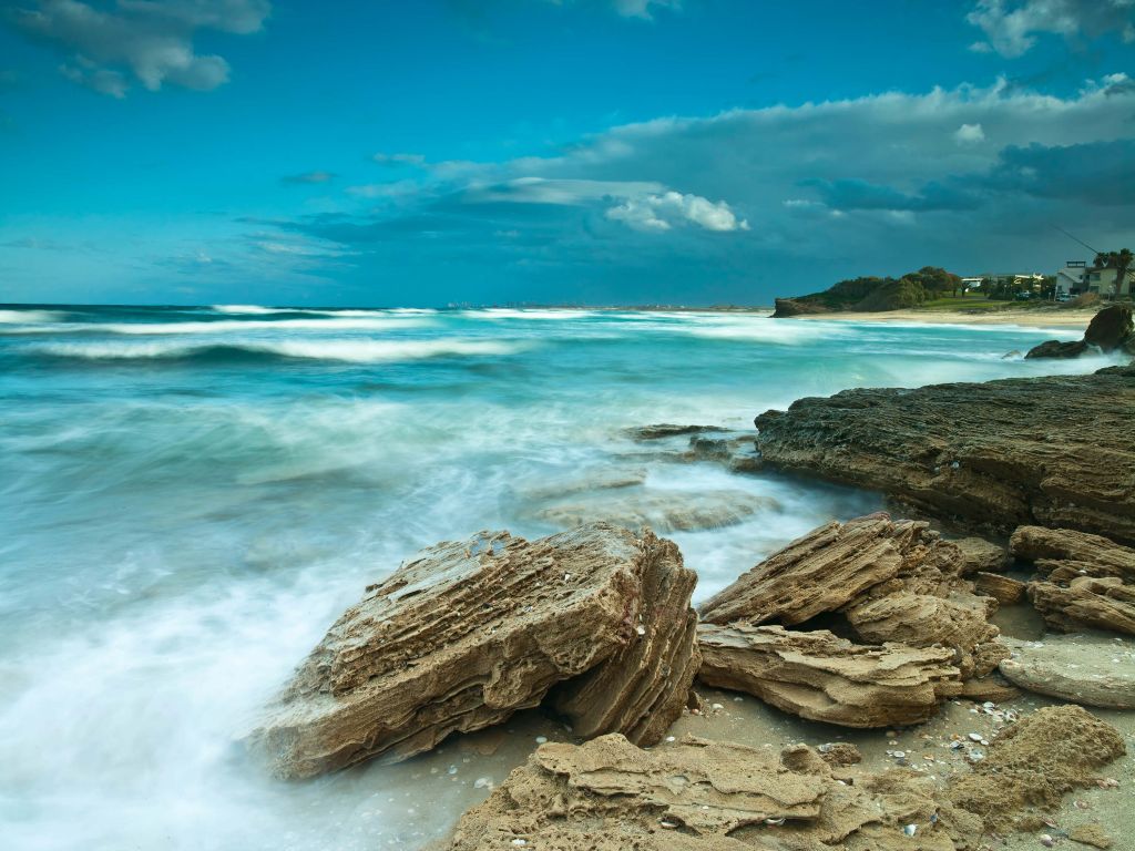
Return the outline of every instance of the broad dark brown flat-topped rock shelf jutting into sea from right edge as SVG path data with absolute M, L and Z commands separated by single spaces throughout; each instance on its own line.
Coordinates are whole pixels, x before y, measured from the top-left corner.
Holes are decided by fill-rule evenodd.
M 757 418 L 766 465 L 882 490 L 975 528 L 1135 541 L 1135 366 L 856 389 Z

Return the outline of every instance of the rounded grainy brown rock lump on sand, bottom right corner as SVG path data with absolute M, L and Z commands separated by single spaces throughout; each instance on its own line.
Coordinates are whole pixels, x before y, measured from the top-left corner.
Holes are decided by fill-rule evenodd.
M 1053 807 L 1126 753 L 1119 732 L 1078 706 L 1039 709 L 1002 730 L 968 775 L 951 781 L 953 804 L 1004 833 L 1028 806 Z

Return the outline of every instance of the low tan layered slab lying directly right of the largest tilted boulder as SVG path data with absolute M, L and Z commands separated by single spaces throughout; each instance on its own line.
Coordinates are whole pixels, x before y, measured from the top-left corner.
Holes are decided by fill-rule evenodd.
M 916 724 L 961 691 L 949 648 L 854 644 L 827 631 L 698 627 L 699 679 L 793 715 L 849 727 Z

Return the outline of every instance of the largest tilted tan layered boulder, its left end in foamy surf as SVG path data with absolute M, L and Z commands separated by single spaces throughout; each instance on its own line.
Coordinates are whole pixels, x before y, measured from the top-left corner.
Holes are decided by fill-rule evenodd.
M 695 579 L 670 541 L 608 524 L 439 544 L 339 617 L 251 742 L 284 777 L 405 759 L 574 679 L 556 694 L 570 721 L 650 743 L 698 666 Z

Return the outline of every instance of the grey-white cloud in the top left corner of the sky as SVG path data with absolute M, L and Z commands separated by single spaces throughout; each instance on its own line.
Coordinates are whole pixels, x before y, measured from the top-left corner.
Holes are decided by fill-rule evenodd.
M 260 30 L 268 0 L 118 0 L 103 11 L 81 0 L 39 0 L 12 12 L 28 35 L 68 54 L 68 79 L 115 98 L 125 96 L 127 73 L 145 89 L 165 84 L 208 91 L 228 82 L 220 56 L 199 54 L 200 30 L 247 34 Z

